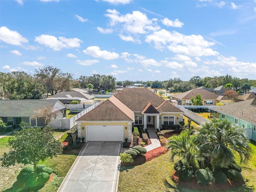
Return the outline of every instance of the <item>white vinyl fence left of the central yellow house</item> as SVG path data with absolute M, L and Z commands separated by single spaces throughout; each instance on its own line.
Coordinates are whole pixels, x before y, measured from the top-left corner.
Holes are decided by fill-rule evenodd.
M 96 106 L 98 106 L 98 104 L 94 104 L 89 108 L 86 108 L 85 110 L 76 114 L 74 117 L 70 119 L 52 119 L 49 125 L 52 126 L 54 129 L 70 129 L 76 124 L 75 120 L 77 120 L 84 114 L 88 113 L 90 110 L 92 110 Z

